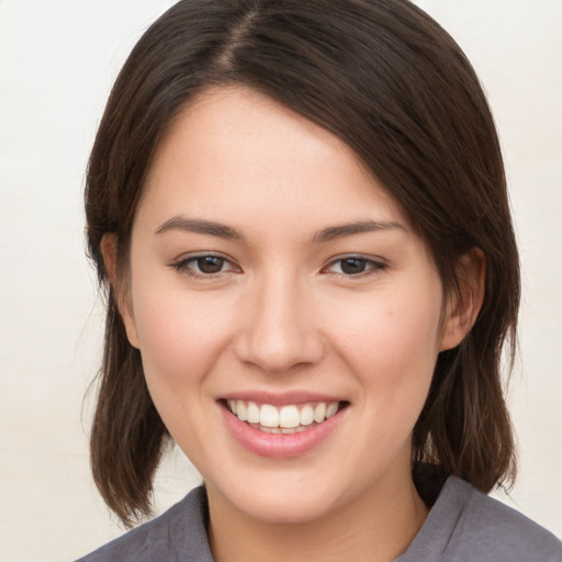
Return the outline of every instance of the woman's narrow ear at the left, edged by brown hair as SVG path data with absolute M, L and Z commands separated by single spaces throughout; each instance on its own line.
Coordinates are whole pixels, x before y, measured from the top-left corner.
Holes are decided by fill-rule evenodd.
M 114 234 L 104 234 L 100 243 L 100 251 L 103 257 L 103 267 L 115 295 L 115 304 L 127 333 L 128 342 L 138 349 L 138 333 L 133 315 L 131 293 L 127 289 L 127 282 L 120 279 L 117 268 L 117 237 Z

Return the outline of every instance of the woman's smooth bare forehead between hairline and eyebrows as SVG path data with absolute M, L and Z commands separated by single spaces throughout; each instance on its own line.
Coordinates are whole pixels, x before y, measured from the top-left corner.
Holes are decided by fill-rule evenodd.
M 288 217 L 311 228 L 408 223 L 340 138 L 244 87 L 204 91 L 178 115 L 150 168 L 138 210 L 148 212 L 153 223 L 187 214 L 246 227 L 265 217 L 278 228 Z

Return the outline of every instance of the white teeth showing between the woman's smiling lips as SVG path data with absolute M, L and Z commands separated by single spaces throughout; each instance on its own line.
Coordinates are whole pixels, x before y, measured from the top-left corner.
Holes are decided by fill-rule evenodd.
M 240 422 L 245 422 L 254 429 L 267 434 L 285 435 L 318 426 L 349 405 L 348 402 L 340 401 L 288 404 L 277 407 L 244 400 L 228 400 L 224 401 L 224 404 Z

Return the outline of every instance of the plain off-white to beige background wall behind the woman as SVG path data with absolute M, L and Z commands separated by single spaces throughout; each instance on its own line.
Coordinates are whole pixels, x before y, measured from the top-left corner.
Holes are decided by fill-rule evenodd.
M 0 0 L 0 559 L 72 560 L 122 529 L 88 467 L 103 313 L 83 256 L 83 170 L 111 83 L 170 0 Z M 562 537 L 562 1 L 419 0 L 490 95 L 522 258 L 503 497 Z M 158 509 L 199 476 L 175 452 Z

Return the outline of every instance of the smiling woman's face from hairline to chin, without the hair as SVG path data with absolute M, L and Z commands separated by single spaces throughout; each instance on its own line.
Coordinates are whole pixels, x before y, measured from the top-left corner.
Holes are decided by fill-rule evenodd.
M 245 88 L 200 94 L 151 166 L 130 274 L 130 340 L 212 508 L 306 521 L 411 483 L 456 341 L 423 240 L 340 139 Z

